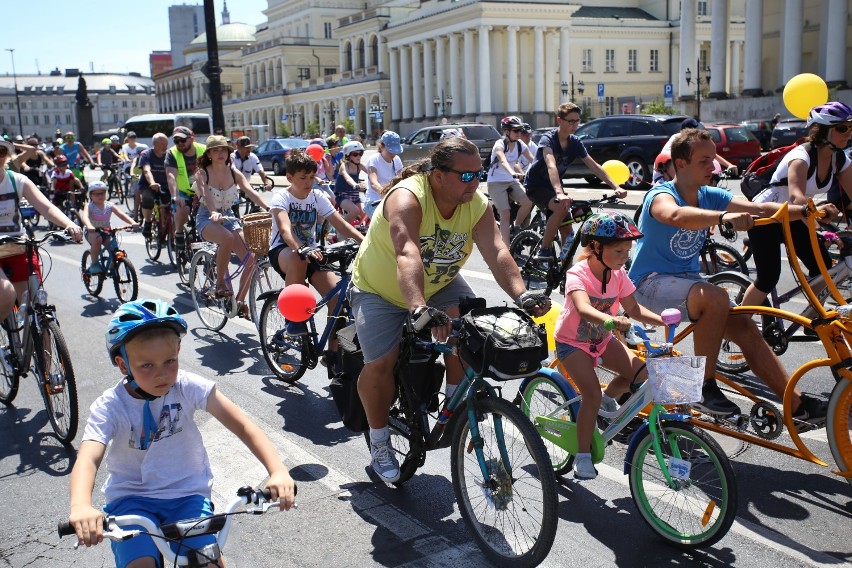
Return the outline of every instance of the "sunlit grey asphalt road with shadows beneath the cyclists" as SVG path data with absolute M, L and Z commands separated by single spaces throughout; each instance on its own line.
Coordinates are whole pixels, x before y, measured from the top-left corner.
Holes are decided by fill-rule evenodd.
M 582 181 L 576 189 L 602 193 Z M 633 194 L 627 201 L 635 206 L 640 199 L 641 194 Z M 447 450 L 430 453 L 426 465 L 402 488 L 373 482 L 363 438 L 343 428 L 337 418 L 325 369 L 309 371 L 293 386 L 276 381 L 250 324 L 231 321 L 219 333 L 204 329 L 174 271 L 148 261 L 141 235 L 127 234 L 123 245 L 139 271 L 140 294 L 176 302 L 189 322 L 182 366 L 216 380 L 218 388 L 268 433 L 300 483 L 297 510 L 237 518 L 225 549 L 229 567 L 488 565 L 454 503 Z M 47 290 L 72 352 L 81 432 L 88 406 L 119 379 L 103 347 L 103 332 L 118 301 L 109 283 L 101 298 L 86 293 L 79 277 L 83 250 L 80 245 L 47 246 Z M 490 305 L 508 301 L 479 256 L 463 274 Z M 791 286 L 789 275 L 784 278 L 782 285 Z M 796 343 L 784 363 L 793 369 L 821 353 L 818 344 Z M 517 385 L 504 387 L 511 398 Z M 808 378 L 804 385 L 823 396 L 830 388 L 830 378 L 822 376 Z M 196 418 L 216 476 L 217 503 L 228 501 L 240 485 L 263 481 L 262 467 L 236 438 L 209 416 L 200 413 Z M 74 551 L 71 539 L 56 536 L 56 522 L 67 518 L 68 474 L 80 435 L 73 447 L 63 447 L 51 436 L 29 378 L 15 406 L 0 407 L 0 439 L 0 566 L 112 565 L 108 546 Z M 833 476 L 829 467 L 742 447 L 730 438 L 719 441 L 736 454 L 740 501 L 737 521 L 717 545 L 685 552 L 658 540 L 637 513 L 622 474 L 624 447 L 614 444 L 598 479 L 560 480 L 559 529 L 545 565 L 792 567 L 838 566 L 852 560 L 852 486 Z M 786 435 L 779 441 L 789 444 Z M 830 462 L 824 431 L 807 434 L 806 441 Z M 95 500 L 102 503 L 99 493 Z

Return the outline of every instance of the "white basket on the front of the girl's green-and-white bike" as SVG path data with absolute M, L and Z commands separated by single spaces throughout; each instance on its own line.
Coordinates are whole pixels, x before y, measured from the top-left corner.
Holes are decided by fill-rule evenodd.
M 660 357 L 645 363 L 657 404 L 688 404 L 701 400 L 707 357 Z

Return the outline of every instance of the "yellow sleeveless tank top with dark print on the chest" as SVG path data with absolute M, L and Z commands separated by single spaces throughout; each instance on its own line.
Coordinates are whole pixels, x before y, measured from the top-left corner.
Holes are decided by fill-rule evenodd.
M 473 227 L 479 222 L 488 198 L 479 191 L 470 203 L 459 205 L 453 216 L 444 219 L 425 174 L 417 174 L 398 183 L 391 191 L 405 189 L 417 197 L 423 210 L 420 223 L 420 258 L 425 269 L 424 293 L 428 300 L 459 273 L 473 250 Z M 365 292 L 406 307 L 396 273 L 396 253 L 390 236 L 390 224 L 384 216 L 387 196 L 373 214 L 370 230 L 355 257 L 352 283 Z

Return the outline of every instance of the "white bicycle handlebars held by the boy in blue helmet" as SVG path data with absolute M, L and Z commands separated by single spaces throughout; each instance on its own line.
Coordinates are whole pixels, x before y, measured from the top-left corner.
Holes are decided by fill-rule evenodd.
M 201 568 L 202 566 L 218 566 L 222 559 L 222 550 L 228 542 L 231 534 L 231 523 L 236 515 L 262 515 L 269 509 L 280 509 L 280 503 L 270 501 L 272 496 L 267 489 L 252 489 L 246 485 L 237 490 L 237 498 L 225 507 L 224 513 L 216 513 L 209 517 L 198 517 L 184 519 L 176 523 L 155 524 L 148 517 L 141 515 L 120 515 L 104 518 L 104 538 L 122 542 L 140 535 L 152 537 L 157 550 L 160 551 L 160 566 L 188 566 L 190 568 Z M 240 511 L 242 507 L 245 510 Z M 294 505 L 295 507 L 295 505 Z M 122 527 L 141 526 L 124 530 Z M 74 536 L 76 533 L 71 523 L 61 521 L 57 526 L 59 538 Z M 188 537 L 201 536 L 205 534 L 218 533 L 216 543 L 201 549 L 193 549 L 184 544 Z M 170 543 L 179 545 L 178 551 L 186 551 L 185 554 L 177 554 L 172 550 Z M 76 550 L 79 543 L 74 544 Z

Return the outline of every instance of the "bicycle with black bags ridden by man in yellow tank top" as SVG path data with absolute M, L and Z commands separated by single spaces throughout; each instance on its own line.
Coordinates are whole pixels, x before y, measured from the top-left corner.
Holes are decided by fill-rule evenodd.
M 465 300 L 461 302 L 462 313 L 470 307 Z M 426 452 L 450 447 L 456 500 L 479 548 L 499 566 L 537 566 L 550 552 L 556 534 L 556 479 L 550 471 L 547 450 L 532 423 L 500 397 L 501 387 L 492 386 L 487 379 L 506 381 L 534 373 L 539 353 L 523 357 L 535 370 L 532 366 L 522 368 L 515 359 L 511 362 L 514 370 L 509 371 L 505 368 L 507 359 L 501 365 L 493 358 L 506 351 L 496 347 L 493 351 L 480 350 L 477 346 L 483 345 L 483 338 L 486 343 L 491 342 L 492 334 L 510 333 L 543 355 L 546 341 L 526 314 L 514 308 L 480 308 L 452 320 L 451 337 L 458 340 L 457 346 L 419 337 L 428 323 L 422 320 L 428 320 L 428 316 L 427 312 L 417 321 L 407 318 L 394 368 L 388 426 L 400 463 L 395 485 L 402 485 L 414 475 L 425 463 Z M 437 382 L 427 383 L 427 391 L 421 392 L 423 381 L 415 381 L 406 370 L 424 357 L 456 352 L 465 365 L 465 374 L 443 409 L 430 414 L 430 408 L 438 408 L 430 401 L 436 396 L 442 377 L 438 375 Z M 434 421 L 431 428 L 430 421 Z M 368 446 L 369 436 L 369 432 L 364 433 Z

